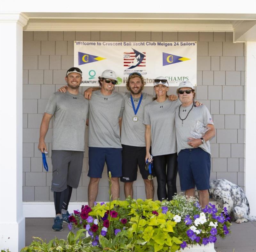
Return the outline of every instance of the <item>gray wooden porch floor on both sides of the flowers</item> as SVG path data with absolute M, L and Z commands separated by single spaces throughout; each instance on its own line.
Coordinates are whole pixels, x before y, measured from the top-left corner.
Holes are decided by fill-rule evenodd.
M 26 218 L 26 246 L 28 246 L 33 236 L 41 237 L 49 241 L 56 236 L 59 239 L 66 239 L 68 235 L 68 225 L 63 224 L 63 231 L 52 231 L 53 218 Z M 232 222 L 231 234 L 226 239 L 218 238 L 215 243 L 217 252 L 256 252 L 256 222 L 236 224 Z

